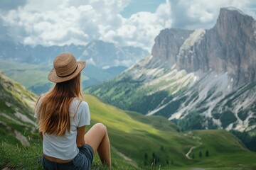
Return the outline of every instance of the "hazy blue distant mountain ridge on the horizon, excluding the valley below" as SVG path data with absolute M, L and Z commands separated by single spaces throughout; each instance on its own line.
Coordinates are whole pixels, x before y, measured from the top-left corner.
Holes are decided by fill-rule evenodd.
M 14 42 L 0 41 L 0 60 L 26 62 L 28 64 L 52 65 L 54 58 L 62 52 L 71 52 L 79 60 L 88 60 L 88 64 L 97 67 L 129 67 L 149 52 L 140 47 L 120 47 L 102 40 L 92 40 L 87 45 L 35 47 Z M 90 60 L 91 59 L 91 60 Z

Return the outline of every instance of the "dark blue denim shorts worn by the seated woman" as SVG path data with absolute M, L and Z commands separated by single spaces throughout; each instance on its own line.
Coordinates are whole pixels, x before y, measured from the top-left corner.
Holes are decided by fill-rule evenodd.
M 83 145 L 79 148 L 79 153 L 75 158 L 68 163 L 57 163 L 51 162 L 48 159 L 43 157 L 43 169 L 46 170 L 87 170 L 90 169 L 93 160 L 93 149 L 90 145 Z

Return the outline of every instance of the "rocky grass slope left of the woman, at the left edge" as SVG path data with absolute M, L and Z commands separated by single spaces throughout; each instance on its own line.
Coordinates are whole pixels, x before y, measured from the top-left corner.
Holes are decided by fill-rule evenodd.
M 29 146 L 37 133 L 33 107 L 36 95 L 0 73 L 0 135 L 1 141 L 17 140 Z

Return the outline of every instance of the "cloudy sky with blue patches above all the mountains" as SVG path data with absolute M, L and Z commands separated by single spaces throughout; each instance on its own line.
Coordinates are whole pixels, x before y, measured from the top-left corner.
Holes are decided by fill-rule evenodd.
M 213 28 L 228 6 L 256 18 L 254 0 L 1 0 L 0 40 L 32 46 L 103 40 L 151 52 L 161 30 Z

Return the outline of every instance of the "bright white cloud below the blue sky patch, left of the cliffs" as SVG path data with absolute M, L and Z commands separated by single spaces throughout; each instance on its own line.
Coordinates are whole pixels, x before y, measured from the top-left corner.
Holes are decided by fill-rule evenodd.
M 164 28 L 171 28 L 171 4 L 161 4 L 156 13 L 139 12 L 129 18 L 122 18 L 122 26 L 117 30 L 107 30 L 102 40 L 134 45 L 151 50 L 154 38 Z M 121 16 L 119 16 L 121 17 Z

